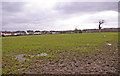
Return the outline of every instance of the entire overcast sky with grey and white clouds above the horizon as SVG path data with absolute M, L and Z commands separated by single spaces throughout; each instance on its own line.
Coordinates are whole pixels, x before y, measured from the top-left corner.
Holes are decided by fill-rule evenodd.
M 2 2 L 2 30 L 118 27 L 117 2 Z

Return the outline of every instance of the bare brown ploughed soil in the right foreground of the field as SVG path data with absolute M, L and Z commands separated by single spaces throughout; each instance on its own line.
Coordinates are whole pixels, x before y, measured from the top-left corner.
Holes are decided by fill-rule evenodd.
M 111 43 L 112 45 L 107 45 Z M 105 42 L 93 52 L 58 51 L 55 58 L 39 58 L 26 74 L 107 74 L 118 72 L 118 46 Z M 95 50 L 95 49 L 93 49 Z

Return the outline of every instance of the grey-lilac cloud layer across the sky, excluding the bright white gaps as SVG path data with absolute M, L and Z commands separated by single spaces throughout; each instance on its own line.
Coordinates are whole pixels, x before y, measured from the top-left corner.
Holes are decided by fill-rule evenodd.
M 81 16 L 81 13 L 117 11 L 115 2 L 63 2 L 57 3 L 54 8 L 45 11 L 39 10 L 38 7 L 31 9 L 26 7 L 26 4 L 24 2 L 3 2 L 3 29 L 55 29 L 58 28 L 57 25 L 54 25 L 55 21 L 76 16 L 73 14 Z

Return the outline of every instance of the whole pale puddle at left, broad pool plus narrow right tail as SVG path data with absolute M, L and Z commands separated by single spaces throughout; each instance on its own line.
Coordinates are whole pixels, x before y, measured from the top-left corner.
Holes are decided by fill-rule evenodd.
M 26 54 L 20 54 L 20 55 L 16 55 L 16 56 L 12 56 L 15 57 L 15 59 L 18 59 L 19 62 L 23 62 L 23 61 L 29 61 L 29 58 L 33 58 L 33 57 L 39 57 L 39 56 L 47 56 L 47 53 L 41 53 L 41 54 L 37 54 L 37 55 L 26 55 Z M 25 58 L 25 57 L 29 57 L 29 58 Z

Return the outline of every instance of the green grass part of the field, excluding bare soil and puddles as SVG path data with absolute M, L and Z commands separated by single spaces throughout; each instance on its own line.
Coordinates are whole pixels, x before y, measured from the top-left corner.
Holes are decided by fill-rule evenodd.
M 106 35 L 106 37 L 104 37 L 104 35 Z M 20 73 L 17 69 L 22 67 L 28 68 L 32 62 L 19 62 L 12 58 L 12 56 L 15 55 L 36 55 L 45 52 L 49 55 L 41 58 L 47 59 L 48 57 L 56 57 L 54 53 L 58 51 L 100 51 L 101 49 L 98 48 L 99 45 L 106 41 L 118 42 L 118 33 L 80 33 L 3 37 L 3 73 Z M 50 52 L 51 50 L 52 52 Z M 37 60 L 37 57 L 32 58 L 32 60 Z

